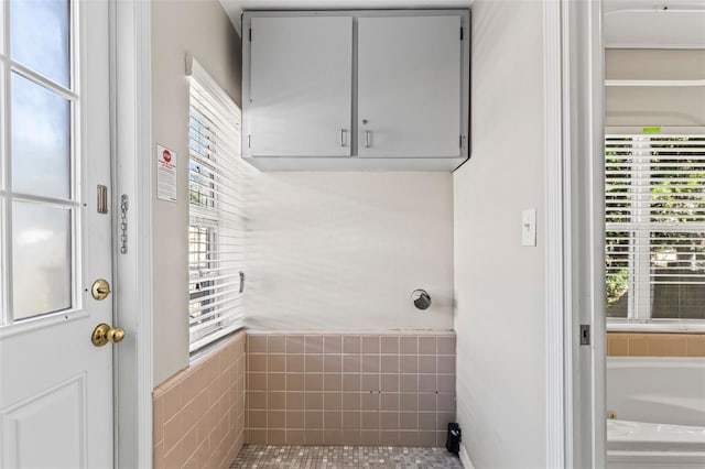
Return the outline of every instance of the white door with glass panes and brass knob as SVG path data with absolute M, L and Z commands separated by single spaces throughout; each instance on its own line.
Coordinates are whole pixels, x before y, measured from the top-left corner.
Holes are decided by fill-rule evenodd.
M 111 283 L 108 4 L 9 0 L 0 19 L 0 465 L 112 467 L 112 346 L 91 343 L 112 321 L 91 295 Z

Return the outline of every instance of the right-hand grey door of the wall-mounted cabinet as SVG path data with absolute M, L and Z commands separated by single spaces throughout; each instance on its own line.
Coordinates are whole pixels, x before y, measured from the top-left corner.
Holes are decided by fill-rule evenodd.
M 460 17 L 358 23 L 358 148 L 370 157 L 460 156 Z

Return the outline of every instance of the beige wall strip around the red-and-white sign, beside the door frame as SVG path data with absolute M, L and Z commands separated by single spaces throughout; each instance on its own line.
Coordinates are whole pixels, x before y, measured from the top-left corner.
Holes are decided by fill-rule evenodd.
M 240 40 L 215 0 L 152 2 L 152 135 L 177 154 L 176 203 L 156 198 L 153 182 L 154 384 L 188 364 L 188 79 L 191 53 L 240 102 Z M 156 172 L 155 172 L 156 173 Z

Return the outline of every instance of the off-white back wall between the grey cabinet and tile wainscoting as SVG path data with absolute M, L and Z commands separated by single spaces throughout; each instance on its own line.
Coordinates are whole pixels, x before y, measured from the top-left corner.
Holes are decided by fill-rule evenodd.
M 453 328 L 449 173 L 247 176 L 248 325 Z M 411 292 L 432 297 L 419 310 Z

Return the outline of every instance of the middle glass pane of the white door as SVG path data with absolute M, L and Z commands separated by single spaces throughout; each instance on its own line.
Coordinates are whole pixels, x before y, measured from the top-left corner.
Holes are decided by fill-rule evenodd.
M 68 100 L 17 74 L 12 74 L 11 94 L 12 190 L 68 198 Z

